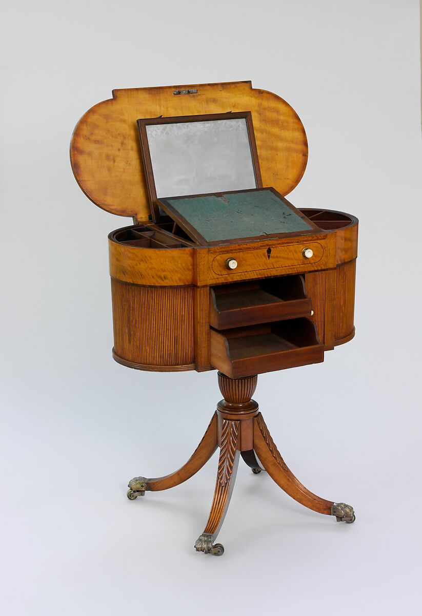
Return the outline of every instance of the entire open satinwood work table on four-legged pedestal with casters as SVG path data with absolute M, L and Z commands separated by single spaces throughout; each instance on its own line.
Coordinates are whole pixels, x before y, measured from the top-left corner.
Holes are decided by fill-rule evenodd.
M 224 551 L 215 538 L 240 456 L 302 505 L 353 522 L 351 506 L 293 475 L 252 399 L 258 374 L 322 362 L 354 336 L 356 217 L 285 199 L 308 157 L 297 113 L 248 81 L 115 90 L 82 116 L 70 152 L 87 197 L 133 219 L 109 234 L 114 359 L 138 370 L 217 369 L 223 395 L 186 464 L 130 480 L 129 499 L 181 484 L 218 448 L 197 551 Z

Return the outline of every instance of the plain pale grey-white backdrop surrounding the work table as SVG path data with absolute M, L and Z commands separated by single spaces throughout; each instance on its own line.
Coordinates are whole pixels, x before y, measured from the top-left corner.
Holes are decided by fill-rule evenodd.
M 2 613 L 416 614 L 417 0 L 28 0 L 1 23 Z M 293 204 L 360 219 L 356 338 L 260 376 L 255 394 L 293 472 L 357 520 L 313 513 L 242 464 L 215 558 L 193 545 L 217 458 L 173 490 L 125 497 L 130 477 L 186 461 L 220 392 L 215 371 L 111 359 L 107 234 L 125 220 L 79 190 L 68 144 L 113 88 L 237 79 L 305 124 Z

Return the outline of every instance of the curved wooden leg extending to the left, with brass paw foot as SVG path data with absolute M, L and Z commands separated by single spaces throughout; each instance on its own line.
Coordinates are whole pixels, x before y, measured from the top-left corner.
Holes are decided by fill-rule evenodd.
M 127 498 L 134 500 L 137 496 L 145 495 L 146 490 L 156 492 L 158 490 L 168 490 L 175 487 L 175 485 L 182 484 L 204 466 L 217 447 L 217 413 L 214 413 L 204 437 L 202 437 L 201 442 L 186 464 L 178 469 L 178 471 L 172 472 L 172 474 L 165 477 L 154 477 L 153 479 L 134 477 L 128 484 Z

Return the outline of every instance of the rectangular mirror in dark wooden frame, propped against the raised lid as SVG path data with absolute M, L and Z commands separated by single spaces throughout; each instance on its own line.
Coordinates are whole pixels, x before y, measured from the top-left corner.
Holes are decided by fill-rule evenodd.
M 154 222 L 157 199 L 261 187 L 250 111 L 138 120 Z

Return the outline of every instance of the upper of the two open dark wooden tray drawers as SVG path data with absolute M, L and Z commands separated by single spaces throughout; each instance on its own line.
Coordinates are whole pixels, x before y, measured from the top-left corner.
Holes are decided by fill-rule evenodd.
M 301 275 L 210 288 L 210 325 L 217 330 L 310 315 Z

